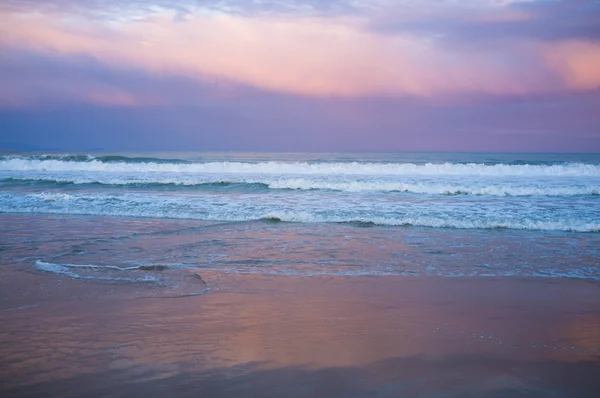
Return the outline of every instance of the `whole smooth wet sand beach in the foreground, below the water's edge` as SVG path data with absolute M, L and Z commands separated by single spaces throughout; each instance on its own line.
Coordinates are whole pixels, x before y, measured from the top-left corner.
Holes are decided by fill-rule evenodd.
M 600 396 L 588 281 L 203 271 L 208 293 L 144 298 L 19 267 L 2 397 Z

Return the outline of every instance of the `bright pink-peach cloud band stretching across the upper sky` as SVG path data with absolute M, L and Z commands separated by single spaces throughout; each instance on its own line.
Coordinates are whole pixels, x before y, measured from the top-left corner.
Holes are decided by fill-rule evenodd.
M 182 22 L 158 12 L 118 23 L 4 12 L 0 48 L 86 54 L 114 68 L 214 84 L 225 78 L 314 97 L 526 95 L 599 87 L 595 44 L 570 41 L 548 47 L 530 40 L 472 52 L 445 47 L 431 37 L 379 34 L 366 25 L 359 17 L 213 13 Z M 137 103 L 126 94 L 90 95 L 99 102 Z

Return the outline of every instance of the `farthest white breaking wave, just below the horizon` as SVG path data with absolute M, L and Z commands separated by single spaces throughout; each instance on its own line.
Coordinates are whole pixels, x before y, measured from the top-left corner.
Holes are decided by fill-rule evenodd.
M 121 157 L 114 157 L 121 158 Z M 0 160 L 3 171 L 53 171 L 53 172 L 110 172 L 110 173 L 231 173 L 263 175 L 427 175 L 427 176 L 565 176 L 599 177 L 600 165 L 565 163 L 553 165 L 482 163 L 307 163 L 307 162 L 206 162 L 190 163 L 146 158 L 132 162 L 91 160 L 35 159 L 5 157 Z

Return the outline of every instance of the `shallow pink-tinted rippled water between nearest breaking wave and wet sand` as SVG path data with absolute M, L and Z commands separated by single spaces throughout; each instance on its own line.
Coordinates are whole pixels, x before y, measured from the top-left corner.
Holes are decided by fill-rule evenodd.
M 154 266 L 166 268 L 160 275 L 215 270 L 600 280 L 600 235 L 590 233 L 96 216 L 0 219 L 4 264 L 75 279 L 158 283 L 140 270 Z

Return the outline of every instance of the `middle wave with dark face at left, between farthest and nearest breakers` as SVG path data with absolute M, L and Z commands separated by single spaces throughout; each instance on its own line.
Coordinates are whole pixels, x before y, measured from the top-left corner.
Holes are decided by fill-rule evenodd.
M 582 196 L 600 195 L 600 183 L 594 185 L 543 186 L 510 185 L 507 183 L 489 185 L 466 185 L 450 182 L 403 183 L 397 181 L 327 181 L 308 178 L 250 178 L 231 180 L 202 180 L 190 176 L 130 176 L 128 178 L 112 175 L 91 175 L 77 177 L 9 177 L 0 179 L 4 183 L 29 183 L 41 186 L 63 185 L 101 185 L 128 186 L 131 188 L 197 188 L 197 189 L 241 189 L 257 190 L 328 190 L 341 192 L 403 192 L 426 195 L 488 195 L 488 196 Z

